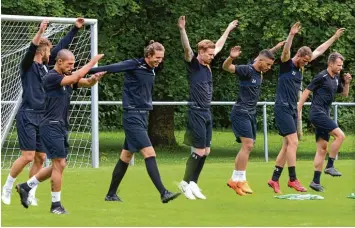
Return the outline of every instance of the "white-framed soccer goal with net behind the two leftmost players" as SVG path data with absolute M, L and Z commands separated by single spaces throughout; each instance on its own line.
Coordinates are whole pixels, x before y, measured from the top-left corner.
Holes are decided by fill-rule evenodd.
M 15 116 L 21 104 L 19 63 L 39 24 L 49 20 L 44 33 L 55 46 L 75 23 L 75 18 L 1 15 L 1 168 L 8 169 L 20 155 Z M 97 20 L 85 19 L 69 49 L 76 57 L 75 67 L 97 54 Z M 68 167 L 99 166 L 98 87 L 80 88 L 72 95 L 70 107 L 70 154 Z

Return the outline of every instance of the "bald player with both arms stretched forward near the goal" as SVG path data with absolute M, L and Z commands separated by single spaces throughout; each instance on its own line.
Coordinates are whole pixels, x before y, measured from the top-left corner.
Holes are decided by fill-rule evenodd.
M 46 94 L 45 113 L 39 126 L 41 141 L 47 157 L 52 164 L 41 169 L 27 182 L 16 185 L 20 195 L 21 204 L 28 208 L 30 199 L 28 193 L 40 182 L 51 178 L 52 206 L 50 212 L 54 214 L 67 214 L 61 204 L 61 188 L 63 171 L 68 155 L 68 128 L 69 105 L 73 88 L 91 87 L 102 77 L 97 73 L 90 78 L 83 78 L 87 72 L 103 57 L 95 56 L 89 63 L 72 73 L 75 64 L 73 53 L 67 49 L 58 52 L 53 70 L 50 70 L 43 79 L 43 88 Z

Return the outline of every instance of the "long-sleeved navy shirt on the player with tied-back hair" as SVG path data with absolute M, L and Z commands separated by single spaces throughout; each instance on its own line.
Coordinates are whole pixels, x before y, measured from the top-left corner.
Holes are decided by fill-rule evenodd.
M 152 110 L 152 89 L 154 86 L 155 72 L 144 60 L 129 59 L 119 63 L 94 67 L 89 71 L 97 73 L 107 71 L 109 73 L 125 72 L 123 83 L 123 109 Z

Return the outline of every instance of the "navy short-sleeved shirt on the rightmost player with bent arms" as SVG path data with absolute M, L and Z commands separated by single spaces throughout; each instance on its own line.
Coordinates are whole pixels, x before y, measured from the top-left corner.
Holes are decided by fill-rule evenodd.
M 329 114 L 336 93 L 342 93 L 344 88 L 339 75 L 331 77 L 327 70 L 323 70 L 313 78 L 307 89 L 313 92 L 311 110 Z

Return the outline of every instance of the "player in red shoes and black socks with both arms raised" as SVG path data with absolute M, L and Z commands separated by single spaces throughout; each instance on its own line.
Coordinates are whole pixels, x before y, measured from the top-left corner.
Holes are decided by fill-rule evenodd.
M 296 151 L 298 147 L 297 100 L 298 91 L 301 89 L 302 72 L 305 65 L 322 55 L 344 32 L 343 28 L 338 29 L 330 39 L 317 47 L 313 52 L 309 47 L 303 46 L 298 49 L 293 58 L 290 58 L 293 37 L 300 29 L 300 22 L 292 26 L 281 55 L 280 75 L 274 109 L 276 126 L 279 134 L 283 137 L 283 144 L 276 158 L 272 178 L 268 181 L 268 185 L 273 188 L 275 193 L 281 193 L 279 178 L 286 162 L 289 171 L 287 185 L 299 192 L 307 191 L 296 177 Z

